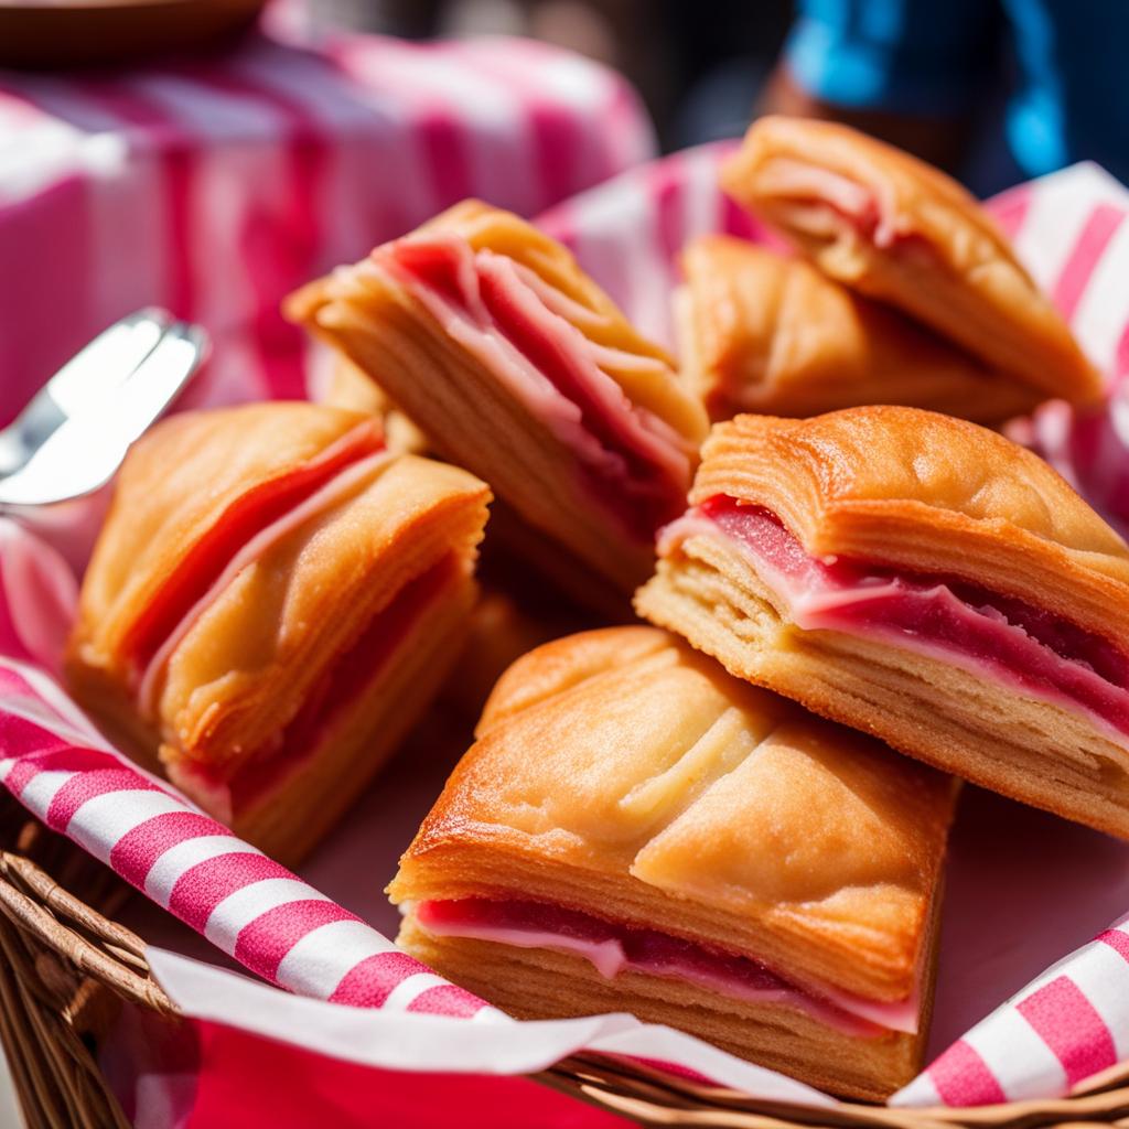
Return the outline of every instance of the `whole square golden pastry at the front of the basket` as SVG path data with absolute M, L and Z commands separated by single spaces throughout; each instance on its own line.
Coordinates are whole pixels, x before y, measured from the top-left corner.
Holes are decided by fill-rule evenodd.
M 955 784 L 653 628 L 520 658 L 401 859 L 399 944 L 522 1017 L 629 1010 L 835 1093 L 918 1069 Z

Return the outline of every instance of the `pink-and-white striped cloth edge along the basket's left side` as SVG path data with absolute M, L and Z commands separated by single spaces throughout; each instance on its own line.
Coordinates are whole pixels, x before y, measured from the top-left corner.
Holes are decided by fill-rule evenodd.
M 68 566 L 0 519 L 0 781 L 28 811 L 271 983 L 358 1007 L 493 1010 L 115 752 L 44 669 L 75 597 Z

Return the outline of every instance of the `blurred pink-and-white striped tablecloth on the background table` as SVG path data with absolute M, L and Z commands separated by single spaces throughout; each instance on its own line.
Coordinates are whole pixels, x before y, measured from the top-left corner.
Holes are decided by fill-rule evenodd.
M 263 34 L 159 70 L 0 71 L 0 423 L 154 304 L 212 333 L 198 401 L 300 396 L 296 286 L 464 196 L 533 215 L 653 147 L 623 79 L 526 41 Z

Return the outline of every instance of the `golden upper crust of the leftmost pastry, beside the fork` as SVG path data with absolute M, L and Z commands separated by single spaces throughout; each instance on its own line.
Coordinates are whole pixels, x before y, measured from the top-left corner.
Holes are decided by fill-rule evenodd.
M 184 619 L 142 691 L 148 658 L 137 668 L 130 633 L 177 566 L 238 499 L 301 470 L 358 421 L 365 426 L 312 404 L 225 409 L 174 418 L 134 446 L 67 658 L 70 683 L 89 708 L 147 736 L 150 754 L 159 743 L 167 764 L 207 765 L 224 779 L 270 751 L 333 662 L 411 581 L 440 569 L 469 581 L 485 522 L 484 483 L 412 455 L 370 454 Z

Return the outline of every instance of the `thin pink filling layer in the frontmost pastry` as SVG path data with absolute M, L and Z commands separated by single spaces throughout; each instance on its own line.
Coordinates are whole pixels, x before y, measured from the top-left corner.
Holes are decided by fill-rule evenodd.
M 751 956 L 724 953 L 657 929 L 605 921 L 545 902 L 465 898 L 423 901 L 415 920 L 437 937 L 488 940 L 518 948 L 548 948 L 588 961 L 609 980 L 631 971 L 684 980 L 729 999 L 791 1007 L 858 1038 L 886 1031 L 914 1033 L 919 996 L 882 1003 L 821 987 L 809 991 L 782 979 Z

